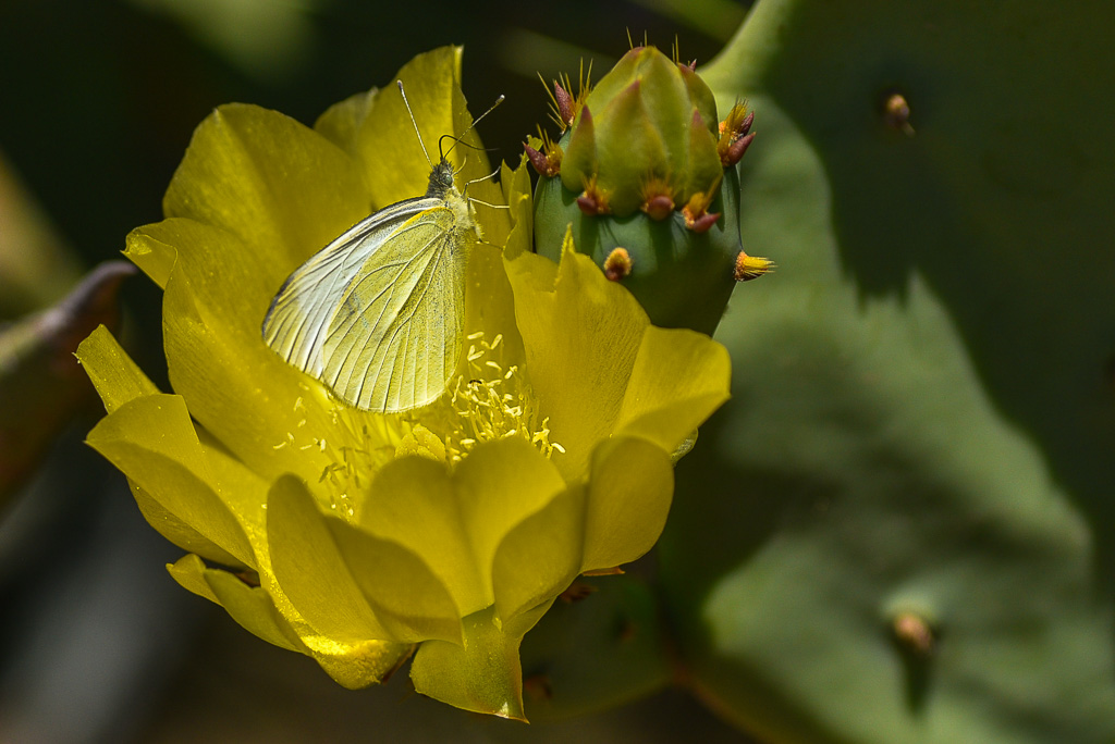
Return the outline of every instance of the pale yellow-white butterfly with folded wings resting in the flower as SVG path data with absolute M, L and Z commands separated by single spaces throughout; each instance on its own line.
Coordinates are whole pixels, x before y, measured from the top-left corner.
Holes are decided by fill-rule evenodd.
M 417 133 L 401 81 L 399 92 Z M 437 165 L 426 159 L 424 196 L 376 212 L 311 256 L 263 319 L 263 341 L 275 353 L 359 409 L 428 405 L 460 356 L 468 245 L 481 228 L 446 155 Z

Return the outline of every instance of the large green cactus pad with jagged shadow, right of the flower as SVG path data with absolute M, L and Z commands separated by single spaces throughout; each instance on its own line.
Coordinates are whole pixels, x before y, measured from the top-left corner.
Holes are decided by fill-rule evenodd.
M 778 273 L 661 541 L 694 688 L 769 742 L 1115 741 L 1115 6 L 759 0 Z

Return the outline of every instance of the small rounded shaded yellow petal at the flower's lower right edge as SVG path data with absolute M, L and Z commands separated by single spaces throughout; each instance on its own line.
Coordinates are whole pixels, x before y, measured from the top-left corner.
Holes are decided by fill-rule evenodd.
M 673 468 L 661 447 L 624 437 L 593 453 L 581 570 L 612 568 L 653 547 L 666 527 Z

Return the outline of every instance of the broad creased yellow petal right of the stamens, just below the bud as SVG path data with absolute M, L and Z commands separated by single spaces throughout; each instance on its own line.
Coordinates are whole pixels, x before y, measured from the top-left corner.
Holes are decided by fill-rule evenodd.
M 728 399 L 727 350 L 650 325 L 568 234 L 556 274 L 544 261 L 521 254 L 506 265 L 530 378 L 551 440 L 568 452 L 556 460 L 562 473 L 583 477 L 595 444 L 623 433 L 675 451 Z

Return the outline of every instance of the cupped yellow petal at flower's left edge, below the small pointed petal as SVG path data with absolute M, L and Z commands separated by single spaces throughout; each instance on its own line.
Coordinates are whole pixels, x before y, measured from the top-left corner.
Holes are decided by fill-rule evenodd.
M 222 498 L 234 495 L 219 493 L 182 398 L 125 403 L 89 432 L 88 442 L 178 521 L 239 562 L 256 566 L 243 527 Z

